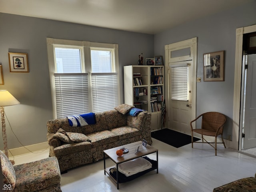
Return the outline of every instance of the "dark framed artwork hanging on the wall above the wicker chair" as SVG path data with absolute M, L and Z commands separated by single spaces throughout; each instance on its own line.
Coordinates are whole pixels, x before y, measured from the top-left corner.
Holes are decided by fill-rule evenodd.
M 224 51 L 204 54 L 204 81 L 224 81 Z

